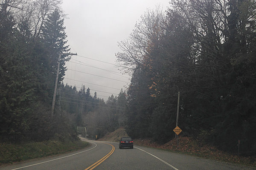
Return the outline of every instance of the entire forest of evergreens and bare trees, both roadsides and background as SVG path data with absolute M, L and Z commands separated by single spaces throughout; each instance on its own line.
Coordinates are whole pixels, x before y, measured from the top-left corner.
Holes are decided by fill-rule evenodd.
M 132 75 L 107 101 L 84 85 L 63 84 L 69 53 L 61 0 L 0 1 L 0 141 L 75 139 L 76 126 L 103 137 L 125 127 L 132 138 L 180 135 L 219 149 L 256 154 L 256 1 L 172 0 L 148 9 L 116 63 Z

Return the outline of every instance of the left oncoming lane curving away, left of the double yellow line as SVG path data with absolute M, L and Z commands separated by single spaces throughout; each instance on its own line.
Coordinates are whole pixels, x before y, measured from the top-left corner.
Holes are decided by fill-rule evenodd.
M 85 170 L 103 157 L 111 156 L 110 152 L 115 148 L 105 142 L 89 142 L 90 146 L 83 150 L 0 167 L 0 170 Z

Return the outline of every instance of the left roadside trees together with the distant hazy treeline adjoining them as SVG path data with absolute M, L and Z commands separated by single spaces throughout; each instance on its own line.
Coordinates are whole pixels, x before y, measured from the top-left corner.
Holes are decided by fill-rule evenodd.
M 67 55 L 61 55 L 52 115 L 58 57 L 70 51 L 61 2 L 0 1 L 0 142 L 73 140 L 76 126 L 100 137 L 124 126 L 124 91 L 105 102 L 90 88 L 61 84 Z

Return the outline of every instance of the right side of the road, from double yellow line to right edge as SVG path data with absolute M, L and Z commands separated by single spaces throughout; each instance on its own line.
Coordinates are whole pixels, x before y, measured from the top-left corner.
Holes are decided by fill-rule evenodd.
M 109 142 L 118 148 L 118 143 Z M 196 156 L 172 153 L 148 147 L 116 149 L 115 153 L 95 170 L 255 170 L 252 167 L 222 163 Z

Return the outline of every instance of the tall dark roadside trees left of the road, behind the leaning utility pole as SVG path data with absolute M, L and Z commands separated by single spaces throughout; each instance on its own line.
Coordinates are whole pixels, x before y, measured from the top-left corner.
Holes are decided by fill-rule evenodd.
M 74 137 L 50 109 L 58 54 L 68 52 L 59 0 L 0 1 L 1 141 L 41 141 L 62 132 Z M 67 56 L 61 56 L 59 80 Z

